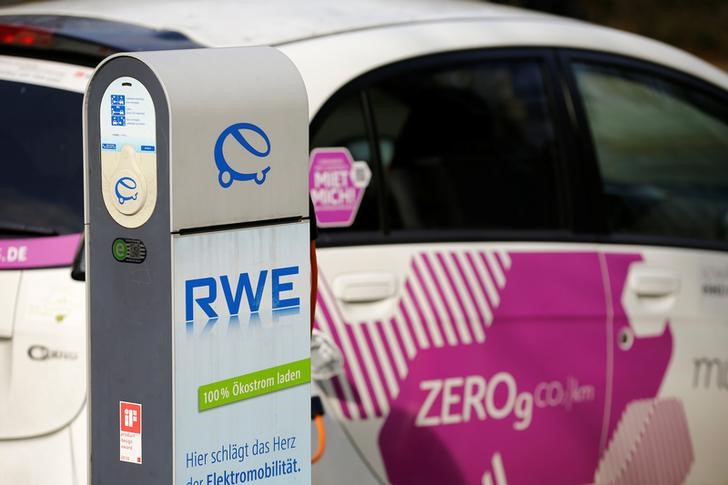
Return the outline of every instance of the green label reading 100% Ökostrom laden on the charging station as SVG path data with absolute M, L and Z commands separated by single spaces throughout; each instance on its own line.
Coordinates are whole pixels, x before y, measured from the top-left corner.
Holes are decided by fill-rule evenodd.
M 311 382 L 311 359 L 297 360 L 250 374 L 211 382 L 197 389 L 200 411 Z

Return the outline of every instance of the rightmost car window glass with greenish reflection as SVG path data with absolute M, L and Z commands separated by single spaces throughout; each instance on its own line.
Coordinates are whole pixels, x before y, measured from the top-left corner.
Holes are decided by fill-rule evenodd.
M 624 67 L 574 63 L 615 233 L 728 240 L 728 105 Z

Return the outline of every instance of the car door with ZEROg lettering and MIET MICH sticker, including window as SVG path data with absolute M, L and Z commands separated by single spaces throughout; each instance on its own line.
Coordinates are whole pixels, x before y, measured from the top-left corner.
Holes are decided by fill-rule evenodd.
M 318 384 L 383 481 L 593 481 L 604 260 L 573 240 L 550 56 L 387 66 L 312 122 L 315 325 L 345 360 Z

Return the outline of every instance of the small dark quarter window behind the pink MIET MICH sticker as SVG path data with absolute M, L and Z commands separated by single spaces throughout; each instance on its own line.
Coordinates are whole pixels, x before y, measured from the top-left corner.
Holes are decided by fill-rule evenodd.
M 333 99 L 324 110 L 321 116 L 314 120 L 311 128 L 311 150 L 346 148 L 355 161 L 363 161 L 369 165 L 371 180 L 364 189 L 358 211 L 351 222 L 342 224 L 342 227 L 321 228 L 320 234 L 326 236 L 344 230 L 378 231 L 380 220 L 376 192 L 377 170 L 373 167 L 372 150 L 367 135 L 360 93 L 357 91 L 348 96 Z M 314 205 L 318 207 L 319 201 L 316 200 L 315 193 L 312 193 L 312 199 Z

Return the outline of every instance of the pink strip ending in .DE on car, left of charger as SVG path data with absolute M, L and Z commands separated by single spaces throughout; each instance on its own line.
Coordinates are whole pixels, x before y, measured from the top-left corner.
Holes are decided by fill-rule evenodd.
M 0 269 L 70 266 L 80 240 L 80 234 L 0 240 Z

